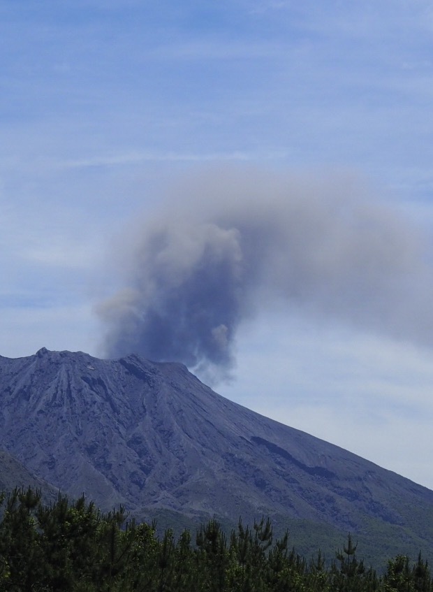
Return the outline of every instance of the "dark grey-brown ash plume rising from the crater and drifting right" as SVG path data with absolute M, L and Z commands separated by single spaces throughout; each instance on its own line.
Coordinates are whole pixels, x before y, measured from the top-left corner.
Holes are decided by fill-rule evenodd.
M 129 231 L 124 289 L 99 307 L 105 355 L 227 377 L 240 323 L 276 300 L 330 322 L 433 344 L 432 268 L 419 229 L 346 178 L 219 170 Z

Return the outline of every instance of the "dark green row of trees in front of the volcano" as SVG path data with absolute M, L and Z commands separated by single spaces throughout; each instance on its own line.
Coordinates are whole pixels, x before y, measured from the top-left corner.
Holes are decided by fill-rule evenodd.
M 304 558 L 262 519 L 227 536 L 216 520 L 177 538 L 157 536 L 122 507 L 103 513 L 85 498 L 15 489 L 1 499 L 0 591 L 10 592 L 411 592 L 433 591 L 421 555 L 390 558 L 378 575 L 346 544 L 328 565 Z

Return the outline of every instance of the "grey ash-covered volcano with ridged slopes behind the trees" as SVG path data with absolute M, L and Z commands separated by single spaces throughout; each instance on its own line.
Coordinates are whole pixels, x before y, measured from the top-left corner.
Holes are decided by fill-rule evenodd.
M 388 553 L 433 550 L 433 491 L 230 402 L 179 363 L 0 356 L 0 448 L 103 510 L 264 514 L 314 549 L 351 531 Z

